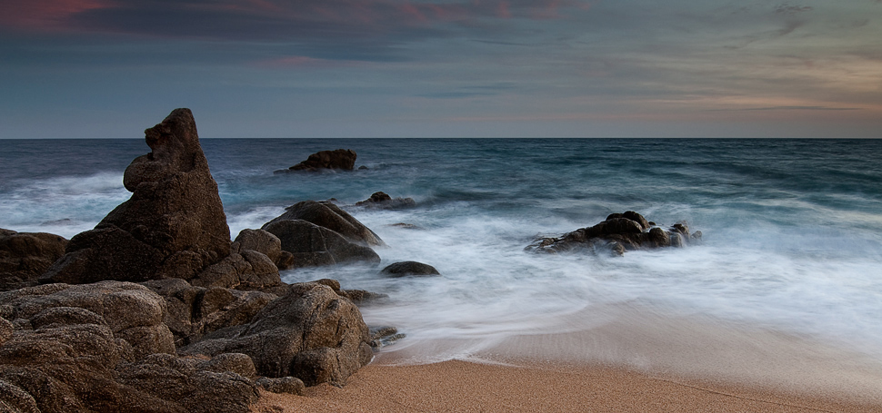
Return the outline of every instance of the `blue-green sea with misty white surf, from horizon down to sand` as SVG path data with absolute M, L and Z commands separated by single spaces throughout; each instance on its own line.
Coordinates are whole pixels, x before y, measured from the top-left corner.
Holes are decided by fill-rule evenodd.
M 399 211 L 346 206 L 386 241 L 379 265 L 282 272 L 387 294 L 362 312 L 406 335 L 382 350 L 399 353 L 396 362 L 498 361 L 520 342 L 540 358 L 646 369 L 676 370 L 703 352 L 701 369 L 731 369 L 712 366 L 726 357 L 754 360 L 755 373 L 772 362 L 882 366 L 882 140 L 201 143 L 233 238 L 296 202 L 352 205 L 379 191 L 416 201 Z M 338 148 L 366 169 L 274 173 Z M 128 199 L 123 172 L 146 152 L 142 139 L 0 140 L 0 228 L 66 238 L 92 229 Z M 687 221 L 702 241 L 621 257 L 525 251 L 536 237 L 624 211 Z M 396 261 L 442 275 L 378 275 Z M 538 339 L 556 336 L 566 339 Z M 725 356 L 732 350 L 744 357 Z

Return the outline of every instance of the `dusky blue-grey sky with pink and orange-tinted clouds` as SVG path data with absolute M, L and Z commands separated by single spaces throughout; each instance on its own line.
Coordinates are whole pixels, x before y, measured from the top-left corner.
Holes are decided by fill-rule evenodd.
M 4 0 L 0 139 L 882 137 L 882 0 Z

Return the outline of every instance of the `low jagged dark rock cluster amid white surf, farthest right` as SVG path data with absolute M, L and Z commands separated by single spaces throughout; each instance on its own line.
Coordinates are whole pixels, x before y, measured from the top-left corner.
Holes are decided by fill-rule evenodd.
M 669 229 L 656 227 L 635 211 L 613 213 L 606 221 L 592 227 L 580 228 L 559 237 L 540 237 L 526 247 L 526 251 L 566 252 L 606 249 L 616 255 L 625 251 L 647 248 L 683 247 L 690 241 L 701 240 L 701 232 L 689 235 L 686 221 L 678 221 Z

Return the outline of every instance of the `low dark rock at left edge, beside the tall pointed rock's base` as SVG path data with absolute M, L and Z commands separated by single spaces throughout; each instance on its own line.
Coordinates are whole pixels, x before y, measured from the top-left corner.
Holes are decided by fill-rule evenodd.
M 45 232 L 0 229 L 0 291 L 33 287 L 65 255 L 67 240 Z

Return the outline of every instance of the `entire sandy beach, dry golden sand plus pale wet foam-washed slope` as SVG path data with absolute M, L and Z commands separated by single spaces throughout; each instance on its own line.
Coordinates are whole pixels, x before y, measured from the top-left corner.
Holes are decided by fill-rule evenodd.
M 253 411 L 878 412 L 878 363 L 778 331 L 622 310 L 602 326 L 467 343 L 407 339 L 343 388 L 265 393 Z M 627 356 L 625 356 L 627 355 Z

